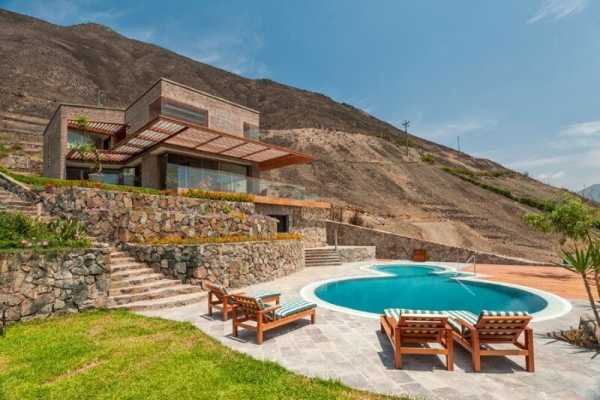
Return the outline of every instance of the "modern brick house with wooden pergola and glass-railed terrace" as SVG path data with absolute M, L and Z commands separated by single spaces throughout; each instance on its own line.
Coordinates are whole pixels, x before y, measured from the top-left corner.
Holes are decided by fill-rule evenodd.
M 44 131 L 43 171 L 89 179 L 99 158 L 104 183 L 301 199 L 300 187 L 260 174 L 313 158 L 260 142 L 259 125 L 258 111 L 162 78 L 124 109 L 61 104 Z

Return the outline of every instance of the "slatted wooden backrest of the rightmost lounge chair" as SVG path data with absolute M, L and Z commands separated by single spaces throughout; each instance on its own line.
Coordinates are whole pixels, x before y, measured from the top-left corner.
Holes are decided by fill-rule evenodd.
M 518 338 L 531 321 L 522 311 L 482 311 L 475 328 L 480 339 L 513 340 Z

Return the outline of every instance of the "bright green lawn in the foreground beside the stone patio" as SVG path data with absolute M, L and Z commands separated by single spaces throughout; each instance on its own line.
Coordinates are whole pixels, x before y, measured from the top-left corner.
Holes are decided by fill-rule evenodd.
M 0 338 L 0 399 L 384 400 L 224 347 L 189 323 L 95 311 Z

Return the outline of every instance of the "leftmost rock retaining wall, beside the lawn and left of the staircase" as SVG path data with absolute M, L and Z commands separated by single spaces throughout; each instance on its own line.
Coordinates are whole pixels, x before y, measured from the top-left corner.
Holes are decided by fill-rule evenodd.
M 0 253 L 0 307 L 9 322 L 103 307 L 110 250 Z

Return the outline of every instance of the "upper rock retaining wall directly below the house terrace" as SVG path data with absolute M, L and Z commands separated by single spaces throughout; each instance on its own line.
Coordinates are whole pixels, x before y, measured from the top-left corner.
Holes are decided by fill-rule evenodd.
M 53 215 L 83 221 L 101 241 L 144 242 L 168 236 L 270 235 L 276 221 L 253 203 L 156 196 L 78 187 L 39 190 Z

